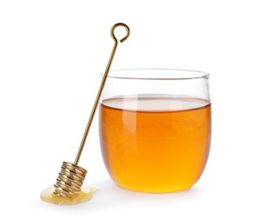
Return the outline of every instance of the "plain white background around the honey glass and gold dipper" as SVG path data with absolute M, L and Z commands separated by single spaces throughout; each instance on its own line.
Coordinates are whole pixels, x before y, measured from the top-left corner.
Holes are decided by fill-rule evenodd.
M 255 9 L 248 0 L 1 0 L 1 217 L 255 218 Z M 120 189 L 102 163 L 96 115 L 79 165 L 99 191 L 76 206 L 43 202 L 63 161 L 74 162 L 118 22 L 131 35 L 112 69 L 210 73 L 209 162 L 191 190 Z

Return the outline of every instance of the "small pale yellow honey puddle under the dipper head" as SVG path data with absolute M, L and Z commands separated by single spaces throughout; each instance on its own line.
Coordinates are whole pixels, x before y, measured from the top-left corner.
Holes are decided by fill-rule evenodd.
M 89 190 L 84 190 L 82 188 L 82 190 L 77 195 L 73 195 L 72 197 L 62 197 L 54 194 L 54 190 L 54 186 L 42 190 L 40 195 L 41 200 L 55 204 L 57 206 L 72 206 L 89 201 L 92 195 L 97 191 L 95 188 L 90 188 Z

